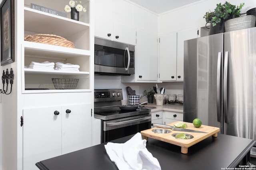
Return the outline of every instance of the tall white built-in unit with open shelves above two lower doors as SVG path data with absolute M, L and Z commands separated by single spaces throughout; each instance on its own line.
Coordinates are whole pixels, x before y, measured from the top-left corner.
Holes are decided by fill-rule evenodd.
M 94 0 L 82 1 L 87 11 L 80 12 L 79 21 L 70 19 L 70 13 L 67 13 L 67 17 L 62 17 L 30 8 L 31 4 L 37 4 L 63 12 L 68 1 L 14 0 L 14 4 L 15 60 L 1 66 L 2 70 L 12 68 L 14 73 L 12 92 L 10 95 L 1 96 L 1 168 L 30 170 L 29 167 L 33 166 L 31 169 L 35 170 L 38 169 L 35 167 L 36 162 L 30 162 L 34 158 L 40 161 L 45 159 L 44 156 L 50 158 L 92 146 Z M 73 42 L 75 48 L 24 40 L 25 36 L 35 34 L 61 36 Z M 78 64 L 80 71 L 25 68 L 31 61 Z M 79 82 L 76 89 L 57 90 L 53 86 L 52 78 L 78 78 Z M 88 104 L 82 106 L 82 103 Z M 66 106 L 72 106 L 68 117 L 64 114 L 68 109 Z M 33 108 L 35 110 L 30 110 Z M 59 111 L 59 117 L 51 115 L 54 112 L 52 109 Z M 78 113 L 77 109 L 79 114 L 83 114 L 73 117 Z M 71 115 L 72 113 L 75 114 Z M 87 140 L 81 138 L 84 135 Z

